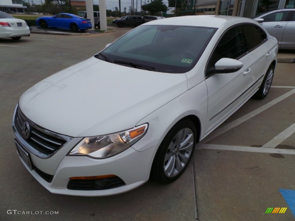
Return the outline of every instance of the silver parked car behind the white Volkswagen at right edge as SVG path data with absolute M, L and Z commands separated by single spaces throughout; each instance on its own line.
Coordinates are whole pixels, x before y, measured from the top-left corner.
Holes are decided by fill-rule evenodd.
M 295 49 L 295 9 L 278 9 L 253 18 L 278 40 L 280 49 Z

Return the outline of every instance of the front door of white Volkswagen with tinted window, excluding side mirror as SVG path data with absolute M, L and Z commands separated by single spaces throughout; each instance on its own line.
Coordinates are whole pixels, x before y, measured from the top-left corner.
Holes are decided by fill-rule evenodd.
M 211 74 L 209 71 L 221 58 L 232 58 L 244 63 L 233 73 Z M 208 90 L 206 132 L 221 123 L 235 111 L 247 97 L 251 59 L 241 25 L 228 29 L 219 39 L 206 67 L 205 81 Z

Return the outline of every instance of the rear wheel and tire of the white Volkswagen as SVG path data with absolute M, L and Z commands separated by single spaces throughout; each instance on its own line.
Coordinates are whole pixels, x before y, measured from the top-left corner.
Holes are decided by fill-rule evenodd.
M 263 78 L 260 88 L 253 95 L 253 98 L 261 100 L 266 97 L 269 90 L 271 89 L 271 83 L 273 82 L 274 69 L 275 68 L 272 64 L 268 67 L 268 70 Z

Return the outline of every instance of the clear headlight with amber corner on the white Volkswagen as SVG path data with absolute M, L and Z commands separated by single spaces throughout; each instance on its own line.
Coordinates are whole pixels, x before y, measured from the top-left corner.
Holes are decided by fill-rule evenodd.
M 91 158 L 107 158 L 119 154 L 142 138 L 148 129 L 148 124 L 118 133 L 85 137 L 69 153 L 68 156 L 89 156 Z

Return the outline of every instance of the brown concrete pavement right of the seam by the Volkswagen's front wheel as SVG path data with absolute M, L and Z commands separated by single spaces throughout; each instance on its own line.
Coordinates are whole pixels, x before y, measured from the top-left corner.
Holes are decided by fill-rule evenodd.
M 295 192 L 293 68 L 278 64 L 267 98 L 249 100 L 197 145 L 199 220 L 295 220 L 294 203 L 280 192 Z M 269 207 L 287 209 L 266 214 Z

